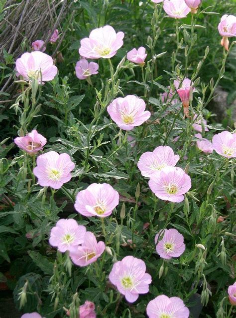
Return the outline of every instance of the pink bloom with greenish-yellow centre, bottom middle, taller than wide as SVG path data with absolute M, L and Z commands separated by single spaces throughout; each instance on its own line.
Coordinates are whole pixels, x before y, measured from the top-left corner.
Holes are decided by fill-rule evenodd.
M 139 294 L 147 294 L 151 276 L 146 272 L 145 263 L 133 256 L 126 256 L 113 265 L 109 280 L 115 285 L 126 301 L 134 303 Z

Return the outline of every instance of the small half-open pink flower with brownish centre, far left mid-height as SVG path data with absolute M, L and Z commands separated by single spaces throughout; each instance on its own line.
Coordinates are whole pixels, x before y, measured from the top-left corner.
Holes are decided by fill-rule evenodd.
M 43 149 L 47 139 L 40 135 L 36 129 L 32 130 L 24 137 L 16 137 L 14 143 L 20 148 L 34 155 L 39 150 Z

